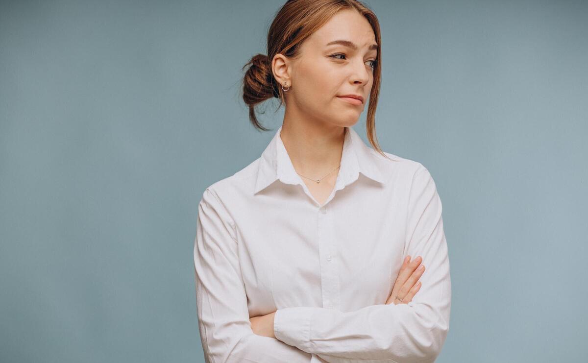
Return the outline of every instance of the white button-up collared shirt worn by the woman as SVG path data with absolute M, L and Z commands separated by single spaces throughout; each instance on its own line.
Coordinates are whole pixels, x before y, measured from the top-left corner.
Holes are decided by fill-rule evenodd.
M 198 206 L 194 263 L 206 362 L 433 362 L 449 330 L 442 206 L 423 164 L 345 128 L 340 169 L 318 203 L 278 129 L 262 155 L 216 181 Z M 386 304 L 403 259 L 422 286 Z M 276 339 L 250 317 L 276 312 Z

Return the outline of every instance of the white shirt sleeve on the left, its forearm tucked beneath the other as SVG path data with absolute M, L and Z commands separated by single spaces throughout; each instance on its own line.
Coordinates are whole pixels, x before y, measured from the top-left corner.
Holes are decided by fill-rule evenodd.
M 253 333 L 233 226 L 218 196 L 206 189 L 198 206 L 194 244 L 198 325 L 206 363 L 310 362 L 311 354 Z

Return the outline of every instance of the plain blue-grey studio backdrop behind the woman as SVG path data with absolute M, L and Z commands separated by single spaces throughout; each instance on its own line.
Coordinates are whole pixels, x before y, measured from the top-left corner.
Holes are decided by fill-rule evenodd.
M 443 201 L 437 361 L 583 361 L 587 2 L 367 3 L 379 142 Z M 282 4 L 0 2 L 0 361 L 204 361 L 197 206 L 273 136 L 239 86 Z

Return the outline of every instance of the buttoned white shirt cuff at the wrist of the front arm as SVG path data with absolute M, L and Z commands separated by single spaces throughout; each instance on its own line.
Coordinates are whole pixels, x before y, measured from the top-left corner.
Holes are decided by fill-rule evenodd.
M 310 307 L 276 310 L 273 315 L 273 335 L 277 340 L 293 347 L 308 347 L 312 312 L 313 308 Z

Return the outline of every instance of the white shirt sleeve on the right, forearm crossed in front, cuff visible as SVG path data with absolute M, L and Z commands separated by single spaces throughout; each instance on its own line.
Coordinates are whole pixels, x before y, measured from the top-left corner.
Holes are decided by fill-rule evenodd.
M 405 257 L 422 256 L 422 286 L 407 304 L 355 311 L 290 307 L 276 311 L 278 340 L 328 362 L 434 362 L 449 331 L 451 283 L 442 206 L 435 182 L 420 164 L 407 209 Z

